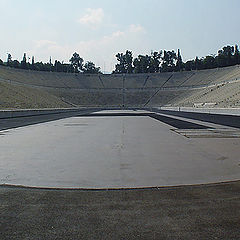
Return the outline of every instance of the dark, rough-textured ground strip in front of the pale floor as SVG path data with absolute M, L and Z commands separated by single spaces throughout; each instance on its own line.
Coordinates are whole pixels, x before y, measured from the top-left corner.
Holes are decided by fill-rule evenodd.
M 145 190 L 0 187 L 0 239 L 240 239 L 240 182 Z

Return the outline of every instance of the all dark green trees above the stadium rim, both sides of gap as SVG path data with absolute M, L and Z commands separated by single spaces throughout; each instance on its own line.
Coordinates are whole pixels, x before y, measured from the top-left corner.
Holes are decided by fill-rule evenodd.
M 196 57 L 186 62 L 182 60 L 180 49 L 177 52 L 174 50 L 152 51 L 150 55 L 138 55 L 136 58 L 133 58 L 132 51 L 127 50 L 125 53 L 116 54 L 116 59 L 118 63 L 112 72 L 114 74 L 179 72 L 234 66 L 240 64 L 240 53 L 238 45 L 228 45 L 219 50 L 216 55 L 208 55 L 203 58 Z M 47 63 L 35 62 L 34 56 L 30 61 L 26 53 L 23 54 L 22 61 L 19 62 L 13 60 L 12 55 L 8 53 L 7 62 L 0 59 L 0 65 L 47 72 L 101 73 L 100 67 L 96 67 L 91 61 L 84 62 L 77 52 L 73 53 L 69 63 L 55 60 L 54 64 L 51 57 Z

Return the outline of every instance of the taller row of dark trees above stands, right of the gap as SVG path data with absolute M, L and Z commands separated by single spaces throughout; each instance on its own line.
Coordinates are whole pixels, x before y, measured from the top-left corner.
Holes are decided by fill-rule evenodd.
M 209 55 L 204 58 L 196 57 L 187 62 L 182 61 L 180 50 L 151 52 L 150 55 L 138 55 L 133 59 L 131 51 L 118 53 L 116 55 L 118 64 L 115 65 L 113 73 L 156 73 L 156 72 L 178 72 L 212 69 L 240 64 L 238 45 L 225 46 L 218 51 L 217 55 Z

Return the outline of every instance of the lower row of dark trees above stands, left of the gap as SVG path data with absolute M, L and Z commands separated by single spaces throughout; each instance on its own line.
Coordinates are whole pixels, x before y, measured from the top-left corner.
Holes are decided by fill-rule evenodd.
M 66 73 L 88 73 L 88 74 L 98 74 L 101 73 L 100 67 L 96 67 L 93 62 L 87 61 L 84 63 L 83 58 L 79 56 L 78 53 L 74 53 L 69 63 L 60 62 L 55 60 L 55 63 L 52 64 L 51 58 L 48 63 L 35 62 L 34 57 L 31 59 L 31 63 L 27 61 L 26 53 L 23 54 L 23 59 L 21 62 L 18 60 L 13 60 L 12 55 L 8 53 L 7 62 L 3 62 L 0 59 L 0 65 L 20 68 L 20 69 L 29 69 L 35 71 L 46 71 L 46 72 L 66 72 Z

